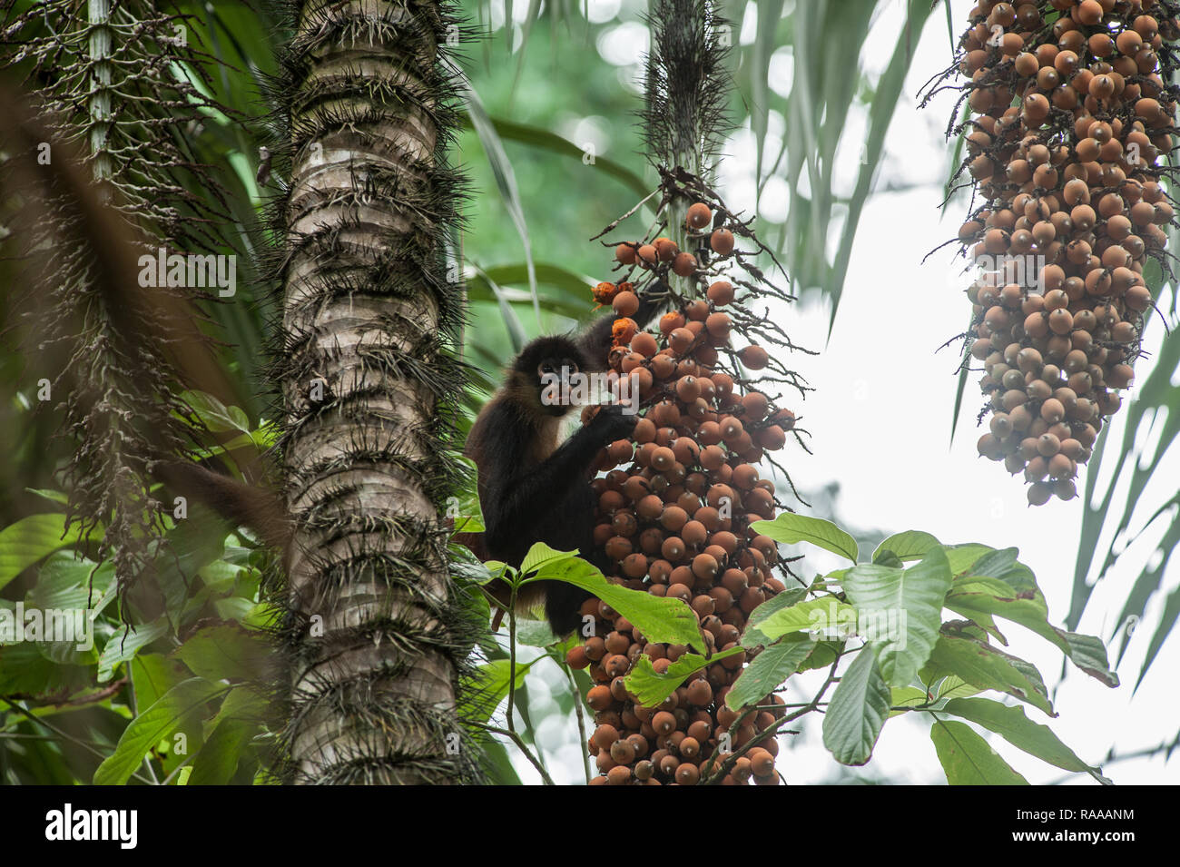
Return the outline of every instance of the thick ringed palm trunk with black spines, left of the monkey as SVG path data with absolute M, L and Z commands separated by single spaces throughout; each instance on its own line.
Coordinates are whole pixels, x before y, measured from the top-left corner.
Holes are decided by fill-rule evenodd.
M 459 182 L 438 2 L 296 4 L 277 96 L 289 118 L 281 223 L 290 779 L 470 777 L 454 708 L 471 646 L 446 563 L 444 448 L 463 383 L 444 278 Z M 450 38 L 450 39 L 448 39 Z

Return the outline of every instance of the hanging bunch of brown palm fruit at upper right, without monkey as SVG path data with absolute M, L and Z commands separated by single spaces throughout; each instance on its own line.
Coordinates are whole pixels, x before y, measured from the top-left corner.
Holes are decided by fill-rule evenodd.
M 972 112 L 959 171 L 983 199 L 958 235 L 981 267 L 966 335 L 990 414 L 978 451 L 1024 474 L 1031 505 L 1076 494 L 1141 354 L 1145 268 L 1168 270 L 1176 12 L 981 0 L 959 42 Z

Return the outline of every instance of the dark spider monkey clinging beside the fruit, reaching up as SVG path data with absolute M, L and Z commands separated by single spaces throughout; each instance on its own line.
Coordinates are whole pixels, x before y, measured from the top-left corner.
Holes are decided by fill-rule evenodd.
M 641 295 L 631 316 L 642 328 L 660 303 L 649 293 Z M 604 369 L 611 343 L 614 316 L 603 316 L 584 334 L 537 337 L 520 350 L 509 367 L 504 385 L 483 408 L 467 435 L 465 454 L 479 468 L 479 503 L 485 531 L 459 534 L 481 559 L 519 564 L 533 543 L 543 541 L 563 551 L 577 549 L 581 557 L 608 571 L 609 563 L 595 553 L 595 494 L 590 487 L 591 465 L 598 449 L 635 429 L 636 418 L 617 406 L 604 406 L 565 442 L 558 428 L 570 405 L 543 399 L 548 383 L 559 376 L 562 385 L 579 373 Z M 457 537 L 458 538 L 458 537 Z M 474 544 L 472 544 L 474 543 Z M 490 591 L 503 607 L 509 589 L 493 583 Z M 564 582 L 539 582 L 518 597 L 520 607 L 540 598 L 545 616 L 557 635 L 581 624 L 579 609 L 590 593 Z M 497 619 L 498 623 L 498 619 Z

